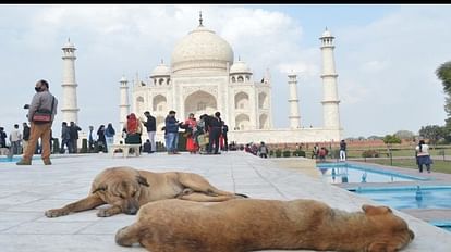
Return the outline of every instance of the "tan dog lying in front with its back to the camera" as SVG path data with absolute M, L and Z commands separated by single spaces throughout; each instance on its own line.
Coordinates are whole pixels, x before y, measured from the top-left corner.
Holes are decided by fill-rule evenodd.
M 414 234 L 389 207 L 344 212 L 314 200 L 237 199 L 217 204 L 164 200 L 144 205 L 115 242 L 151 252 L 244 252 L 307 249 L 391 252 Z

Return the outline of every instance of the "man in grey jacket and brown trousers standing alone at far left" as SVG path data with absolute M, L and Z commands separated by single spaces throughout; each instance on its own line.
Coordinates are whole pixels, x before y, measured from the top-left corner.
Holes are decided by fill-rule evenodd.
M 22 160 L 20 160 L 16 165 L 31 165 L 33 153 L 35 153 L 36 143 L 38 139 L 41 139 L 42 151 L 41 158 L 45 165 L 51 165 L 50 161 L 50 130 L 51 125 L 53 124 L 54 115 L 57 114 L 58 99 L 50 93 L 49 84 L 41 79 L 36 83 L 35 86 L 36 93 L 32 99 L 32 103 L 28 108 L 28 121 L 31 123 L 31 135 L 28 148 L 23 154 Z M 50 122 L 38 122 L 33 121 L 36 112 L 40 110 L 47 110 L 50 112 Z

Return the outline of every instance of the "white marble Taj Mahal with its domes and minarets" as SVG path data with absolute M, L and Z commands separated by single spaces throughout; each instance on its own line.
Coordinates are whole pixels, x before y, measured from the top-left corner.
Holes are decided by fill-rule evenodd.
M 234 58 L 227 40 L 203 24 L 181 38 L 171 54 L 169 64 L 161 60 L 142 80 L 136 76 L 131 86 L 123 76 L 119 81 L 119 124 L 126 115 L 142 116 L 149 111 L 157 119 L 157 141 L 163 141 L 164 118 L 170 110 L 176 111 L 176 118 L 184 121 L 190 113 L 198 118 L 202 114 L 221 113 L 229 126 L 229 142 L 317 142 L 339 141 L 343 129 L 340 126 L 338 86 L 333 58 L 334 37 L 326 28 L 319 38 L 322 55 L 322 127 L 301 127 L 297 98 L 297 76 L 288 74 L 289 128 L 273 128 L 271 105 L 271 78 L 254 78 L 246 62 Z M 65 122 L 76 122 L 75 54 L 70 41 L 63 50 L 63 104 Z M 130 100 L 131 104 L 130 104 Z M 318 101 L 319 102 L 319 101 Z M 143 139 L 147 134 L 143 134 Z

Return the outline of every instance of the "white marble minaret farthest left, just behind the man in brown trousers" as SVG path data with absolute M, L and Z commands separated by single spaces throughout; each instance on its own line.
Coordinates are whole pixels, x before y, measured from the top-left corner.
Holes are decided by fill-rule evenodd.
M 78 124 L 78 111 L 76 104 L 76 87 L 78 86 L 75 83 L 75 50 L 76 48 L 71 42 L 71 39 L 68 39 L 68 42 L 62 48 L 63 50 L 63 79 L 62 79 L 62 92 L 63 92 L 63 103 L 61 108 L 63 122 L 68 124 L 74 122 Z

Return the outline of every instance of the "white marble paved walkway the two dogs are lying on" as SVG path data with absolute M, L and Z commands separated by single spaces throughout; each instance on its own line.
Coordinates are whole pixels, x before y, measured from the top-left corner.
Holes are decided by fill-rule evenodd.
M 377 204 L 296 169 L 282 168 L 270 159 L 244 152 L 171 156 L 158 153 L 129 159 L 108 154 L 54 155 L 52 162 L 51 166 L 45 166 L 41 160 L 34 161 L 32 166 L 0 163 L 0 251 L 145 251 L 114 243 L 115 231 L 133 223 L 135 216 L 119 214 L 99 218 L 96 210 L 58 218 L 44 216 L 48 209 L 60 207 L 85 197 L 95 175 L 106 167 L 119 165 L 153 172 L 194 172 L 220 189 L 252 198 L 315 199 L 345 211 L 359 211 L 364 203 Z M 405 213 L 394 212 L 406 219 L 416 235 L 405 251 L 451 251 L 451 232 Z

